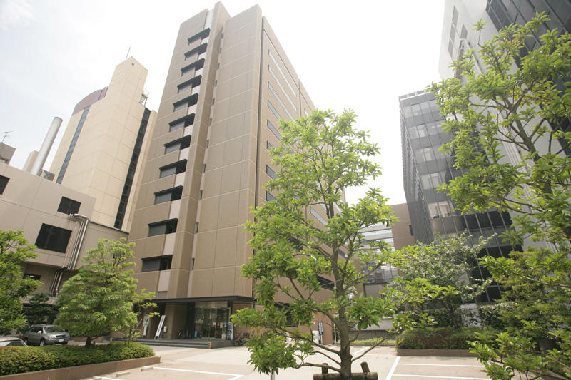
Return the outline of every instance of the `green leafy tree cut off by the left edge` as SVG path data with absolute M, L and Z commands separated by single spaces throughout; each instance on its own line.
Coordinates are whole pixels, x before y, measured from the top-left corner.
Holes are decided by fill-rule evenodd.
M 38 255 L 29 245 L 22 230 L 0 230 L 0 330 L 24 326 L 22 300 L 41 284 L 22 278 L 22 265 Z

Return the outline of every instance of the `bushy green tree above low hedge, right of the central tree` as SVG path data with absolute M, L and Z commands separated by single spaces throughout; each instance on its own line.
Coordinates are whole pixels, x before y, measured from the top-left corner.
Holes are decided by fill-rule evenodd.
M 391 260 L 400 274 L 394 285 L 405 300 L 411 293 L 415 296 L 415 303 L 408 305 L 405 314 L 415 317 L 416 313 L 442 308 L 444 318 L 453 327 L 462 327 L 460 305 L 475 302 L 491 282 L 470 277 L 478 252 L 489 240 L 480 237 L 477 244 L 470 246 L 468 232 L 448 239 L 436 235 L 435 241 L 428 245 L 418 243 L 397 252 Z M 419 287 L 420 293 L 415 294 Z

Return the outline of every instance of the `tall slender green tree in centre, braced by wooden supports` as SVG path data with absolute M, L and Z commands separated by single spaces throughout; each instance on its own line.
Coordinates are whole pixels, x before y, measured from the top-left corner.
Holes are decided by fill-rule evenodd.
M 378 165 L 366 160 L 378 148 L 367 142 L 367 133 L 353 127 L 354 121 L 350 111 L 314 111 L 282 122 L 281 147 L 271 150 L 279 170 L 266 188 L 276 199 L 256 207 L 253 220 L 246 222 L 254 255 L 242 267 L 255 280 L 256 304 L 262 307 L 242 309 L 232 317 L 255 329 L 248 349 L 251 363 L 263 373 L 324 366 L 350 379 L 351 363 L 369 350 L 353 356 L 350 344 L 360 330 L 395 311 L 390 294 L 363 297 L 357 291 L 366 275 L 391 255 L 385 242 L 365 249 L 358 231 L 379 222 L 390 225 L 394 217 L 376 189 L 355 205 L 343 198 L 348 186 L 365 185 L 380 174 Z M 324 210 L 324 220 L 313 219 L 312 209 Z M 374 264 L 361 271 L 358 262 Z M 331 279 L 333 289 L 322 289 L 320 277 Z M 310 331 L 317 316 L 335 327 L 340 346 L 313 342 Z M 354 337 L 352 329 L 357 330 Z M 308 361 L 316 349 L 334 364 Z

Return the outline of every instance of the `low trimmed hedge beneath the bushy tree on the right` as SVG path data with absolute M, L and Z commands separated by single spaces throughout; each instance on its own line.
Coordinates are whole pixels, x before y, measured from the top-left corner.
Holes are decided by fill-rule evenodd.
M 482 332 L 479 327 L 463 327 L 455 330 L 450 327 L 429 327 L 413 329 L 397 338 L 398 349 L 470 349 L 468 342 L 475 341 L 474 334 Z

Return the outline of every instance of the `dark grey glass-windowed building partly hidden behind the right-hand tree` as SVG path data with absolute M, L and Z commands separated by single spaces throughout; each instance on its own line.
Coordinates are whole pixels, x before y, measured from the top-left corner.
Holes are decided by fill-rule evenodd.
M 453 156 L 440 151 L 440 147 L 450 141 L 450 136 L 440 127 L 444 118 L 438 112 L 433 94 L 426 91 L 410 93 L 400 96 L 399 103 L 404 188 L 415 239 L 430 243 L 436 233 L 449 237 L 468 231 L 473 243 L 480 236 L 496 234 L 480 252 L 482 256 L 500 257 L 521 249 L 502 244 L 498 237 L 512 225 L 507 212 L 490 210 L 461 215 L 450 197 L 438 192 L 438 186 L 460 175 L 460 170 L 453 168 Z M 476 267 L 472 276 L 485 279 L 489 273 L 485 268 Z M 492 284 L 479 301 L 492 302 L 498 297 L 500 289 Z

